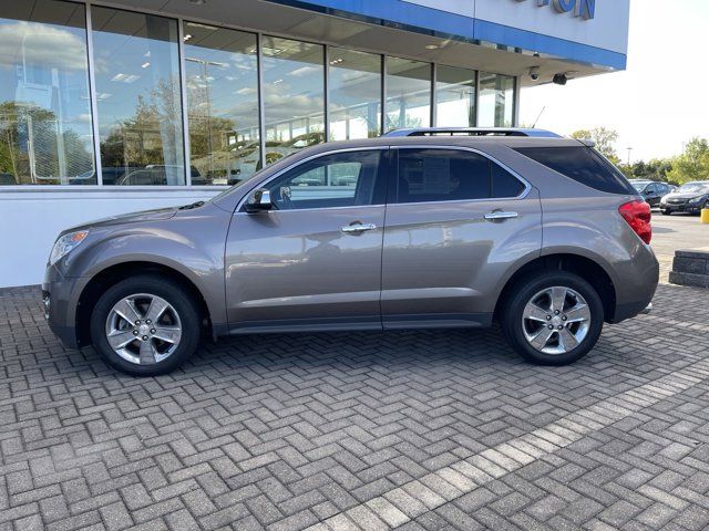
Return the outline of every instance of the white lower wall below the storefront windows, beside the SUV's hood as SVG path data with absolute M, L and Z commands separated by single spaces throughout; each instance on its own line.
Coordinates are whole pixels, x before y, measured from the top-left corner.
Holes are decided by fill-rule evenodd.
M 0 288 L 42 283 L 52 244 L 63 229 L 119 214 L 187 205 L 223 190 L 202 187 L 150 190 L 0 188 Z

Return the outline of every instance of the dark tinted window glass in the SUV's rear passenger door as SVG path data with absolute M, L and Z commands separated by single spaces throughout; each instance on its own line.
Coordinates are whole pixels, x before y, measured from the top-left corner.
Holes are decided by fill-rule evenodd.
M 513 198 L 524 184 L 476 153 L 399 149 L 398 202 Z

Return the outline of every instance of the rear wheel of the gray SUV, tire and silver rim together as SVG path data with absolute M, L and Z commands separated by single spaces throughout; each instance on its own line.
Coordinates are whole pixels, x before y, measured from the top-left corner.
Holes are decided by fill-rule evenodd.
M 584 357 L 598 341 L 603 323 L 596 290 L 566 272 L 541 273 L 518 283 L 502 314 L 510 345 L 541 365 L 567 365 Z

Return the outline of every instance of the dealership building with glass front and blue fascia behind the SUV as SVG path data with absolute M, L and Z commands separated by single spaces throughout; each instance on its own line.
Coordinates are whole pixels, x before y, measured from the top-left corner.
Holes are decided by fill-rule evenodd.
M 0 288 L 40 283 L 64 228 L 207 199 L 314 144 L 515 126 L 523 87 L 624 70 L 628 18 L 629 0 L 0 0 Z

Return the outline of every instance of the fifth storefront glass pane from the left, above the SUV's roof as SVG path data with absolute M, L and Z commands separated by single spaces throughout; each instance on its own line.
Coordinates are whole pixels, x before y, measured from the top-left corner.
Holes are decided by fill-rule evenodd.
M 381 55 L 328 50 L 331 140 L 372 138 L 381 133 Z

